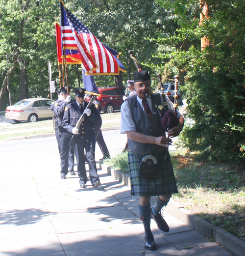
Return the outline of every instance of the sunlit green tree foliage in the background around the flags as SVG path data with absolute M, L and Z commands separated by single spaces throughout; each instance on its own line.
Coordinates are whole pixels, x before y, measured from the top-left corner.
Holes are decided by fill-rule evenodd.
M 26 65 L 29 97 L 48 97 L 48 61 L 51 63 L 52 80 L 55 81 L 56 88 L 59 87 L 53 24 L 54 21 L 59 22 L 59 1 L 40 1 L 39 6 L 36 6 L 36 1 L 27 2 L 28 8 L 24 10 L 20 1 L 0 0 L 0 74 L 3 74 L 0 76 L 0 84 L 6 71 L 14 64 L 13 55 L 18 56 L 18 67 L 9 80 L 12 103 L 20 98 L 20 68 L 23 65 Z M 134 50 L 135 56 L 146 65 L 162 64 L 161 59 L 152 57 L 158 44 L 145 40 L 145 37 L 157 38 L 159 35 L 173 34 L 174 29 L 172 19 L 155 1 L 66 0 L 64 3 L 102 43 L 122 53 L 120 60 L 127 71 L 123 73 L 124 85 L 136 70 L 127 54 L 128 50 Z M 24 30 L 20 45 L 21 21 L 24 23 Z M 153 71 L 150 66 L 147 68 Z M 78 73 L 80 86 L 83 86 L 80 67 Z M 68 66 L 68 74 L 69 85 L 78 87 L 76 65 Z M 114 76 L 95 76 L 95 80 L 98 86 L 115 85 Z M 3 96 L 8 99 L 8 95 Z

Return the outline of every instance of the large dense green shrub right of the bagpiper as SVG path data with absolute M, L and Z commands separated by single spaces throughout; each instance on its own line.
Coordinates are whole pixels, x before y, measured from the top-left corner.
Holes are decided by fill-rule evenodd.
M 169 6 L 170 1 L 159 1 Z M 176 6 L 184 4 L 185 9 Z M 196 4 L 196 5 L 195 5 Z M 244 0 L 208 1 L 209 18 L 201 26 L 199 1 L 176 1 L 169 6 L 181 22 L 172 42 L 189 40 L 189 49 L 172 48 L 164 57 L 186 74 L 181 86 L 187 99 L 186 123 L 181 145 L 198 151 L 199 157 L 243 164 L 245 160 L 245 20 Z M 188 10 L 186 8 L 189 8 Z M 198 14 L 198 16 L 197 16 Z M 189 21 L 189 23 L 188 23 Z M 211 45 L 201 51 L 200 38 Z M 169 39 L 169 38 L 168 38 Z M 165 44 L 166 38 L 157 42 Z M 165 68 L 168 68 L 168 65 Z M 165 71 L 167 73 L 167 71 Z

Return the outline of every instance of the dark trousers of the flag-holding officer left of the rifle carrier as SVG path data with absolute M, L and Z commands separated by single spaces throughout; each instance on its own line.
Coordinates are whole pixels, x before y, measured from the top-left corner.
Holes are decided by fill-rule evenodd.
M 61 173 L 67 175 L 68 168 L 74 171 L 74 149 L 69 146 L 71 134 L 66 130 L 61 130 L 59 133 L 60 140 L 60 167 Z

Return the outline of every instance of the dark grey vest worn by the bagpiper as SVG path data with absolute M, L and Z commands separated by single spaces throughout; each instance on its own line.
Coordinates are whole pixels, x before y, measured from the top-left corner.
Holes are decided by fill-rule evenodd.
M 132 119 L 135 123 L 136 132 L 154 137 L 165 136 L 165 132 L 160 123 L 160 116 L 153 104 L 152 118 L 149 122 L 146 113 L 143 111 L 140 103 L 136 98 L 136 95 L 133 95 L 126 100 L 132 114 Z M 144 157 L 145 155 L 158 156 L 166 150 L 165 147 L 159 146 L 157 144 L 136 142 L 134 140 L 130 140 L 129 138 L 128 148 L 130 152 L 141 157 Z

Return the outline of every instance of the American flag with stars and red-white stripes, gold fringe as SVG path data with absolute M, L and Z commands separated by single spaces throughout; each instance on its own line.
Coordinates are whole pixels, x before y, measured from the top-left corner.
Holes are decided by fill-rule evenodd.
M 100 43 L 89 29 L 64 7 L 62 1 L 60 9 L 63 49 L 79 51 L 86 75 L 119 75 L 120 70 L 125 72 L 117 56 Z

